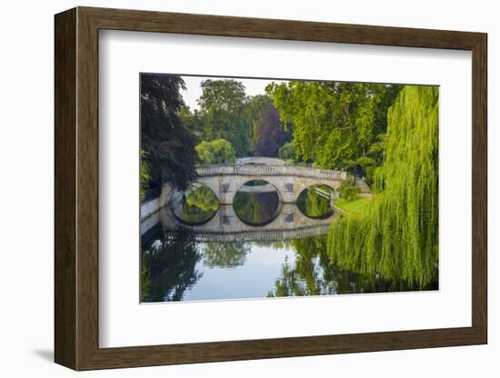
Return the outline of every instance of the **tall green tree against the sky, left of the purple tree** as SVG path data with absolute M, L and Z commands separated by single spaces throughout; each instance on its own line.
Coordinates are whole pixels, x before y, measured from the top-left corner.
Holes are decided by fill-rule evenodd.
M 205 80 L 198 99 L 203 119 L 203 139 L 224 138 L 237 156 L 245 156 L 252 127 L 245 114 L 245 85 L 235 80 Z

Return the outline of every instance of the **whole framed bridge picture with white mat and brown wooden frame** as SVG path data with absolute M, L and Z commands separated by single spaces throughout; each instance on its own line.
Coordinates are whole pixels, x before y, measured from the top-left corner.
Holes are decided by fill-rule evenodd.
M 486 45 L 55 15 L 55 362 L 487 343 Z

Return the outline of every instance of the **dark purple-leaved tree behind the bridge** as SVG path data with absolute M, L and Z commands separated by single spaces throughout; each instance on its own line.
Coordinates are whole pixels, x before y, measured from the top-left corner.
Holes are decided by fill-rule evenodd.
M 267 104 L 262 114 L 260 126 L 257 130 L 255 154 L 276 157 L 280 147 L 291 140 L 292 137 L 285 132 L 283 123 L 279 119 L 279 113 L 275 106 L 273 106 L 273 103 Z

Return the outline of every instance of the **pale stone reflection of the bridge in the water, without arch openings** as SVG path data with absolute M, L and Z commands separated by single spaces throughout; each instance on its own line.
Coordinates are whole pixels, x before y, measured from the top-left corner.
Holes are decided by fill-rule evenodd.
M 217 213 L 205 224 L 184 224 L 169 207 L 163 207 L 141 224 L 141 234 L 157 224 L 161 224 L 163 233 L 175 237 L 175 230 L 187 228 L 195 233 L 200 242 L 249 242 L 300 239 L 308 236 L 327 234 L 335 213 L 326 219 L 308 218 L 295 204 L 283 204 L 280 213 L 269 224 L 255 227 L 245 224 L 235 214 L 232 205 L 223 204 Z

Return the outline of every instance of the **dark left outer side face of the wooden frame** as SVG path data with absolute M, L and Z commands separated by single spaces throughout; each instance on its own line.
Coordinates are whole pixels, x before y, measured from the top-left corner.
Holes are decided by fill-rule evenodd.
M 76 367 L 76 11 L 55 17 L 55 353 Z

